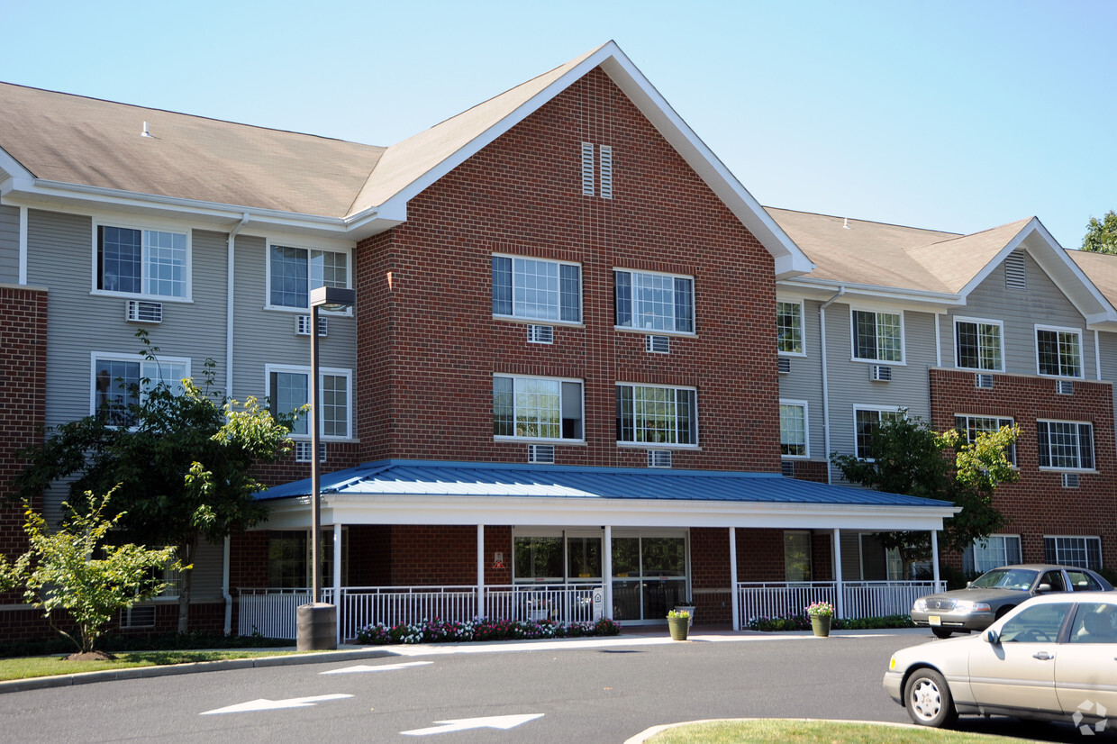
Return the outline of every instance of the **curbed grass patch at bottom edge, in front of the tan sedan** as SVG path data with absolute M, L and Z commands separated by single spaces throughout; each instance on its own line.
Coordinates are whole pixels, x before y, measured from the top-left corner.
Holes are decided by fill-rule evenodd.
M 794 721 L 712 721 L 675 726 L 648 740 L 648 744 L 731 744 L 737 742 L 791 742 L 792 744 L 997 744 L 1019 738 L 986 736 L 936 728 Z

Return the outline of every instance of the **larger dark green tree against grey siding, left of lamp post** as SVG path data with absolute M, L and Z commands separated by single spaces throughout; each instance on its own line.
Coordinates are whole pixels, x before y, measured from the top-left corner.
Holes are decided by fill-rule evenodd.
M 159 349 L 142 330 L 136 336 L 141 355 L 157 362 Z M 204 389 L 189 379 L 181 390 L 143 380 L 124 410 L 57 427 L 22 452 L 29 464 L 16 478 L 18 496 L 29 500 L 63 478 L 74 478 L 75 502 L 86 492 L 115 488 L 130 537 L 174 546 L 184 566 L 193 564 L 200 540 L 220 543 L 259 524 L 268 509 L 254 498 L 265 487 L 255 466 L 288 451 L 293 417 L 276 420 L 255 398 L 240 404 L 209 392 L 212 370 L 207 360 Z M 181 574 L 179 632 L 189 628 L 192 575 L 190 567 Z

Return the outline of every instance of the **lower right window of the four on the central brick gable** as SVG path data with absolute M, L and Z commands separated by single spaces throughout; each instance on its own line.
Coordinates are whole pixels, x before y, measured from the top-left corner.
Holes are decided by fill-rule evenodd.
M 617 385 L 617 441 L 697 445 L 697 392 L 691 388 Z

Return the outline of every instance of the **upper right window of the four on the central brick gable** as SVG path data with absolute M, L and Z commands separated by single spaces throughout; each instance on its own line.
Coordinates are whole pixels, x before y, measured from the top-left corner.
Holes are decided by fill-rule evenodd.
M 694 280 L 669 274 L 614 271 L 617 325 L 694 333 Z

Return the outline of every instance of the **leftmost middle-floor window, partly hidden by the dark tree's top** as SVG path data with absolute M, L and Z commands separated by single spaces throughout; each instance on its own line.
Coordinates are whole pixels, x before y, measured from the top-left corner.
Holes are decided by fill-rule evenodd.
M 136 356 L 90 354 L 89 413 L 103 417 L 109 426 L 135 426 L 131 408 L 143 402 L 149 390 L 164 384 L 178 394 L 182 391 L 182 380 L 190 376 L 189 357 L 142 360 Z

